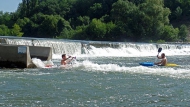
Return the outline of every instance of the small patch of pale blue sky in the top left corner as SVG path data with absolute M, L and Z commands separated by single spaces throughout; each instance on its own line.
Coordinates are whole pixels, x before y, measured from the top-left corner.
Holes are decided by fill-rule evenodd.
M 0 11 L 15 12 L 22 0 L 0 0 Z

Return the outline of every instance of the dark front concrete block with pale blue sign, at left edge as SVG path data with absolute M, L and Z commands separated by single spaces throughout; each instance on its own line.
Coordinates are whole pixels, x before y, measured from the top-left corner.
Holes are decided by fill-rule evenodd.
M 0 67 L 28 68 L 30 64 L 28 46 L 0 45 Z

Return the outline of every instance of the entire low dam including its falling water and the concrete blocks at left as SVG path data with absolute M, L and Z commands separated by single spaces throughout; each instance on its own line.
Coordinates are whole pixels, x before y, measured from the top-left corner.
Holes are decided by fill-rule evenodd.
M 31 63 L 32 58 L 38 58 L 42 61 L 60 60 L 62 54 L 118 56 L 119 53 L 120 56 L 127 57 L 154 56 L 159 47 L 162 47 L 163 51 L 167 52 L 167 55 L 168 53 L 173 55 L 178 51 L 181 55 L 189 53 L 189 44 L 184 43 L 104 42 L 0 36 L 0 45 L 0 67 L 7 68 L 30 68 L 33 66 Z

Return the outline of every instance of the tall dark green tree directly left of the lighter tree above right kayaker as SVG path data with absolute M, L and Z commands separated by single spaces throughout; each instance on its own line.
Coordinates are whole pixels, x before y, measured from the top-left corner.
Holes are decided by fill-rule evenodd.
M 118 27 L 120 39 L 129 39 L 136 32 L 134 25 L 138 24 L 137 6 L 129 1 L 118 0 L 112 5 L 111 17 Z M 137 20 L 136 20 L 137 19 Z

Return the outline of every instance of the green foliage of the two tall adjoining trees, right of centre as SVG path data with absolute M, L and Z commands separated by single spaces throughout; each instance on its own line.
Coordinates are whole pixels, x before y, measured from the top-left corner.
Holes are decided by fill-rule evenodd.
M 113 4 L 112 17 L 122 32 L 121 38 L 155 40 L 161 36 L 163 25 L 169 24 L 170 11 L 162 0 L 146 0 L 136 6 L 132 2 L 118 0 Z

